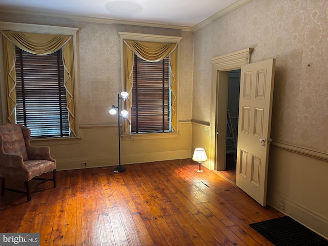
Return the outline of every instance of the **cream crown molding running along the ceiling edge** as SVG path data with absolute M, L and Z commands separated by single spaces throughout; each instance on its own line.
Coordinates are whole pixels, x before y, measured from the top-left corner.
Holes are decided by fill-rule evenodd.
M 91 22 L 91 23 L 100 23 L 100 24 L 121 24 L 121 25 L 144 26 L 144 27 L 167 28 L 167 29 L 180 29 L 182 31 L 194 32 L 251 1 L 252 0 L 237 0 L 235 3 L 229 5 L 228 7 L 222 9 L 221 11 L 217 12 L 216 14 L 203 20 L 201 23 L 199 23 L 193 27 L 146 23 L 146 22 L 131 22 L 128 20 L 117 20 L 117 19 L 87 17 L 87 16 L 79 16 L 79 15 L 67 15 L 67 14 L 53 14 L 53 13 L 23 11 L 23 10 L 13 10 L 13 9 L 1 9 L 0 13 L 11 14 L 11 15 L 14 15 L 15 17 L 17 17 L 17 15 L 20 15 L 20 16 L 26 16 L 26 17 L 34 16 L 34 17 L 47 18 L 47 19 L 64 18 L 64 19 L 75 20 L 75 21 L 80 21 L 80 22 Z

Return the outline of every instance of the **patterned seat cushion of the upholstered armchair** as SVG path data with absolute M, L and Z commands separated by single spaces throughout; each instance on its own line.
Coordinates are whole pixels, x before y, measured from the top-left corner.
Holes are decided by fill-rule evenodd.
M 27 160 L 24 165 L 29 172 L 27 180 L 56 169 L 56 163 L 51 160 Z

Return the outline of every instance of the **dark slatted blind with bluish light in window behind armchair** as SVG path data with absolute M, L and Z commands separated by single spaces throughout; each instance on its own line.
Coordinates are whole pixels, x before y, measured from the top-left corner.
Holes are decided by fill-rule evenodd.
M 16 47 L 16 122 L 31 137 L 69 137 L 61 50 L 35 55 Z

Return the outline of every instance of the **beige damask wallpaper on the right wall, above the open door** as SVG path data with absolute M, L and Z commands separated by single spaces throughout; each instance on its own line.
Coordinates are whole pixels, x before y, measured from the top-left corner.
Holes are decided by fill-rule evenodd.
M 328 153 L 328 1 L 253 0 L 194 37 L 194 119 L 210 121 L 209 60 L 254 48 L 276 58 L 272 139 Z

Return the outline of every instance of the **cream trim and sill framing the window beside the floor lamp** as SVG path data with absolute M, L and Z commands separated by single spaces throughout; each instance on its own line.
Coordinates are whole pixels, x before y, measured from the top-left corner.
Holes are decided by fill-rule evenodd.
M 125 88 L 124 82 L 124 40 L 137 40 L 137 41 L 146 41 L 146 42 L 157 42 L 157 43 L 173 43 L 177 44 L 177 74 L 176 74 L 176 118 L 177 118 L 177 126 L 176 133 L 179 132 L 179 71 L 180 71 L 180 40 L 182 37 L 179 36 L 165 36 L 165 35 L 155 35 L 155 34 L 144 34 L 144 33 L 132 33 L 132 32 L 118 32 L 120 36 L 120 47 L 121 47 L 121 88 Z M 124 124 L 123 124 L 124 125 Z M 139 137 L 137 137 L 139 135 Z M 134 139 L 154 139 L 154 138 L 167 138 L 177 136 L 177 134 L 173 133 L 131 133 L 129 135 L 122 135 L 124 140 L 130 138 L 130 136 Z

